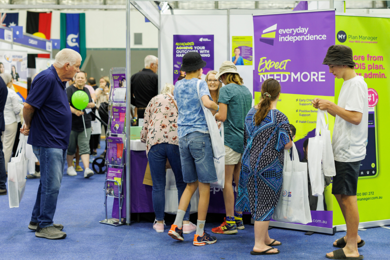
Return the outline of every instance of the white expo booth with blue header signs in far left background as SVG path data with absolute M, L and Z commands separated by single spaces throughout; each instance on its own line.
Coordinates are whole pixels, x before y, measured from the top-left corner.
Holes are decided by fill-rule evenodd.
M 16 75 L 13 86 L 22 102 L 27 98 L 27 78 L 36 71 L 27 69 L 27 54 L 50 54 L 50 59 L 36 58 L 36 70 L 40 72 L 39 68 L 47 69 L 53 62 L 52 43 L 26 33 L 18 38 L 12 28 L 0 26 L 0 66 L 4 67 L 4 72 Z

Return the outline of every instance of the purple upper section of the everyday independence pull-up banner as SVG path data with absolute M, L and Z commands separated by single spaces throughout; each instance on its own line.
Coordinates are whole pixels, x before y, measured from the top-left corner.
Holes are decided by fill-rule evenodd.
M 334 96 L 334 76 L 322 61 L 335 44 L 335 11 L 258 15 L 253 27 L 253 92 L 274 78 L 282 93 Z

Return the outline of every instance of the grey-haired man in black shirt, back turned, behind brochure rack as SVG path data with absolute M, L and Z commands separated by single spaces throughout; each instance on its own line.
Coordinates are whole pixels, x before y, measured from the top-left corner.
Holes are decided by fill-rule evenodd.
M 145 69 L 134 74 L 130 80 L 132 105 L 137 108 L 137 117 L 144 118 L 145 109 L 153 96 L 158 94 L 158 58 L 148 55 L 145 58 Z

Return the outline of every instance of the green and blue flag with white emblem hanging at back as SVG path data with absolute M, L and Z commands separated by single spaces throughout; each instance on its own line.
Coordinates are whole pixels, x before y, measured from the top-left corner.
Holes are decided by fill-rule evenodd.
M 85 47 L 85 14 L 61 13 L 61 50 L 69 48 L 80 53 L 81 66 L 87 56 Z M 80 66 L 80 67 L 81 67 Z

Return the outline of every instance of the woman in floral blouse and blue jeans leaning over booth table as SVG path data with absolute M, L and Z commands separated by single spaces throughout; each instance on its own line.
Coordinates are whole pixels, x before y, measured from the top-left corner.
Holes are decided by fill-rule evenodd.
M 177 105 L 170 94 L 174 88 L 166 83 L 159 95 L 148 104 L 144 114 L 144 125 L 141 131 L 141 142 L 146 143 L 150 174 L 153 181 L 153 209 L 156 219 L 153 229 L 164 232 L 165 184 L 167 159 L 176 179 L 178 201 L 186 187 L 181 171 L 181 160 L 177 134 Z M 183 233 L 196 231 L 197 226 L 189 222 L 190 205 L 183 219 Z

